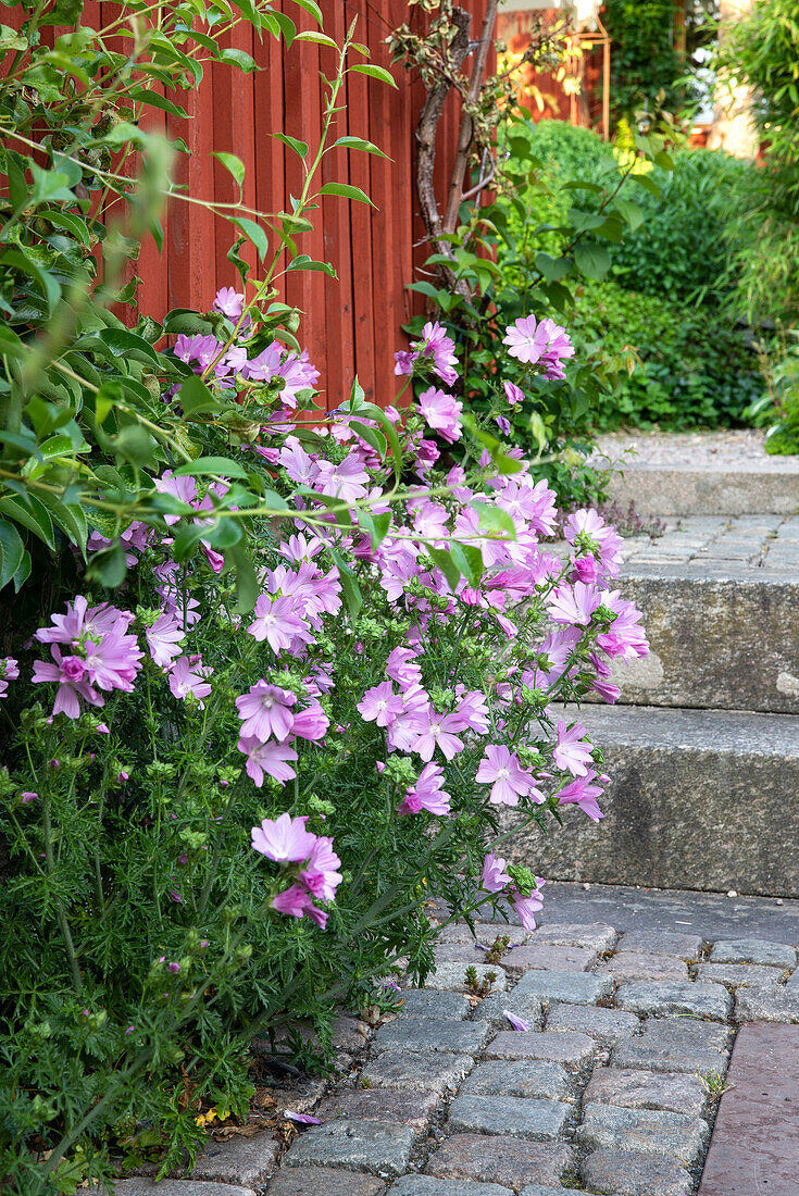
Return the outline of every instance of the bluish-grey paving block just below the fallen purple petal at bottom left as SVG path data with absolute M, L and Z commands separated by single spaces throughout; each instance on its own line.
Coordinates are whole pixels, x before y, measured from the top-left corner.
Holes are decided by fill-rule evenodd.
M 343 1167 L 372 1174 L 398 1176 L 408 1166 L 414 1131 L 380 1122 L 328 1122 L 311 1125 L 288 1148 L 285 1167 Z

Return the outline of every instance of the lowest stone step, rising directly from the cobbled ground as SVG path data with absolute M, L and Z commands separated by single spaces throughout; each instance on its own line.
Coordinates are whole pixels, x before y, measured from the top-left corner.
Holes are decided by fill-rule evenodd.
M 504 846 L 554 880 L 799 897 L 799 716 L 583 707 L 611 780 L 594 824 L 574 806 Z M 513 825 L 507 812 L 504 829 Z

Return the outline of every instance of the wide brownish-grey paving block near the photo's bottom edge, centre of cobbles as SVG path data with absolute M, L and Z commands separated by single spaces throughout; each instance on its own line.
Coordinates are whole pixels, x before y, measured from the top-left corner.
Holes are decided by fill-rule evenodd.
M 573 1164 L 574 1152 L 550 1142 L 488 1134 L 453 1134 L 425 1168 L 440 1179 L 474 1179 L 522 1188 L 543 1183 L 557 1186 Z

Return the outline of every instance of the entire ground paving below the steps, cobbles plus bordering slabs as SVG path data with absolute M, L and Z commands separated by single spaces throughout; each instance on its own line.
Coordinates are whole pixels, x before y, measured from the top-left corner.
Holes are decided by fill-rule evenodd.
M 799 1092 L 782 1067 L 799 1067 L 799 902 L 554 890 L 531 934 L 505 922 L 478 923 L 476 940 L 445 928 L 427 988 L 404 991 L 377 1032 L 338 1019 L 341 1078 L 325 1092 L 309 1086 L 301 1107 L 321 1124 L 301 1128 L 281 1159 L 268 1133 L 232 1139 L 212 1145 L 191 1179 L 126 1180 L 120 1196 L 795 1196 L 786 1098 Z M 580 908 L 616 925 L 561 920 Z M 498 934 L 514 946 L 490 966 L 475 941 Z M 464 983 L 470 965 L 478 978 L 495 972 L 483 1000 Z M 506 1011 L 530 1029 L 512 1030 Z M 700 1189 L 737 1035 L 724 1141 Z M 752 1098 L 761 1117 L 748 1142 Z M 297 1092 L 287 1099 L 298 1107 Z M 733 1100 L 743 1111 L 731 1104 L 727 1116 Z

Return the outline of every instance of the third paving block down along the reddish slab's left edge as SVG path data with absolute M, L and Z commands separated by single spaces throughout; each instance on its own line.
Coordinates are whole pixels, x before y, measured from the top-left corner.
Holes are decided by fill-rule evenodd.
M 590 1149 L 661 1154 L 687 1167 L 699 1163 L 708 1136 L 701 1117 L 599 1104 L 583 1105 L 583 1124 L 577 1130 L 578 1140 Z

